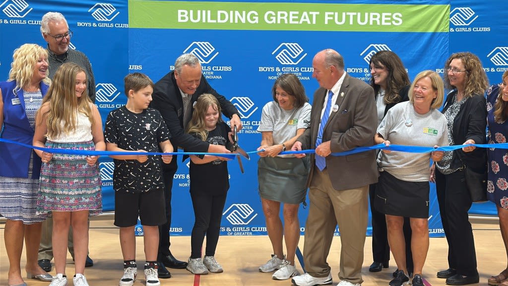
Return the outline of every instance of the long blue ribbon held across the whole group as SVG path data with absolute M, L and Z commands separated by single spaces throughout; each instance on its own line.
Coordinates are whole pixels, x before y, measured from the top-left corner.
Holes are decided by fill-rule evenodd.
M 68 154 L 68 155 L 85 155 L 85 156 L 115 156 L 115 155 L 141 155 L 140 152 L 135 151 L 86 151 L 86 150 L 71 150 L 71 149 L 54 149 L 54 148 L 44 148 L 44 147 L 36 147 L 28 144 L 23 144 L 20 142 L 16 142 L 9 139 L 0 138 L 0 142 L 6 142 L 11 144 L 17 144 L 26 148 L 37 149 L 43 152 L 48 153 L 58 153 L 58 154 Z M 499 144 L 469 144 L 469 145 L 454 145 L 454 146 L 445 146 L 445 147 L 423 147 L 423 146 L 405 146 L 405 145 L 390 145 L 386 147 L 384 144 L 378 144 L 369 147 L 358 147 L 352 150 L 332 153 L 333 156 L 346 156 L 356 153 L 361 153 L 369 150 L 390 150 L 390 151 L 399 151 L 399 152 L 407 152 L 407 153 L 429 153 L 432 151 L 454 151 L 457 149 L 462 149 L 463 147 L 475 146 L 480 148 L 496 148 L 496 149 L 508 149 L 508 143 L 499 143 Z M 256 154 L 258 152 L 264 151 L 249 151 L 247 154 Z M 314 150 L 301 150 L 301 151 L 284 151 L 279 154 L 312 154 Z M 240 156 L 238 153 L 224 154 L 224 153 L 206 153 L 206 152 L 171 152 L 171 153 L 161 153 L 161 152 L 144 152 L 142 155 L 213 155 L 213 156 L 221 156 L 230 159 L 234 159 L 236 156 Z

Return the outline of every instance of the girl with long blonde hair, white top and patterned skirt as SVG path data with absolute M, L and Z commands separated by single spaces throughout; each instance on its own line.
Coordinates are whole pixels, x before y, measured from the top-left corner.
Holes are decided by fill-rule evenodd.
M 86 92 L 86 73 L 78 65 L 60 66 L 36 116 L 34 146 L 104 151 L 102 120 Z M 88 286 L 84 273 L 88 216 L 102 212 L 98 156 L 37 150 L 42 158 L 37 212 L 53 217 L 56 277 L 50 286 L 67 285 L 67 237 L 74 235 L 74 285 Z

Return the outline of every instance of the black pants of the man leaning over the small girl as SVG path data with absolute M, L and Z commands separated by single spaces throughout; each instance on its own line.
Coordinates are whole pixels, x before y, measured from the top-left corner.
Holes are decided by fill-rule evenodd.
M 164 181 L 164 199 L 166 202 L 166 223 L 159 225 L 159 248 L 158 260 L 162 256 L 167 256 L 171 253 L 169 246 L 169 230 L 171 228 L 171 188 L 173 188 L 173 177 L 175 176 L 178 165 L 176 163 L 176 156 L 173 156 L 171 163 L 162 163 L 162 176 Z

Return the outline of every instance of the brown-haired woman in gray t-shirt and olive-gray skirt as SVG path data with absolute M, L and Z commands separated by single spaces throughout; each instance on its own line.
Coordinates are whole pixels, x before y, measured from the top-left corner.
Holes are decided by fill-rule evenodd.
M 302 83 L 292 73 L 277 78 L 272 95 L 273 101 L 263 107 L 258 128 L 262 135 L 258 148 L 261 157 L 258 161 L 258 182 L 273 254 L 259 271 L 278 269 L 272 278 L 285 280 L 300 275 L 295 268 L 296 247 L 300 239 L 298 207 L 305 201 L 309 162 L 307 157 L 296 158 L 279 153 L 291 150 L 298 136 L 307 129 L 311 106 Z M 280 203 L 284 204 L 283 228 L 279 217 Z M 288 251 L 286 256 L 282 252 L 282 234 Z

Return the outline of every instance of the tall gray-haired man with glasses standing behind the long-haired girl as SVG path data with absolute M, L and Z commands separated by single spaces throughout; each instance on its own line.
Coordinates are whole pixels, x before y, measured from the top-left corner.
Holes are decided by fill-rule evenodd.
M 86 55 L 80 51 L 69 49 L 72 31 L 69 30 L 67 20 L 61 13 L 48 12 L 42 16 L 41 34 L 48 42 L 48 77 L 53 79 L 58 68 L 65 63 L 75 63 L 86 72 L 88 96 L 95 102 L 95 80 L 93 71 Z M 53 259 L 53 245 L 51 242 L 53 219 L 48 218 L 42 224 L 41 244 L 39 245 L 39 266 L 45 271 L 51 271 Z M 69 252 L 74 258 L 72 227 L 69 229 Z M 85 267 L 93 266 L 93 260 L 86 256 Z

